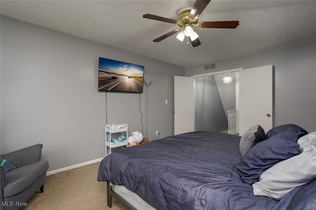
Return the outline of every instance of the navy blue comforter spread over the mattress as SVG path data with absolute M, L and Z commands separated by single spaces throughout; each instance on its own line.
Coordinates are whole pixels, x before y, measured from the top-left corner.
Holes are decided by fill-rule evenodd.
M 118 150 L 103 159 L 98 181 L 124 185 L 158 210 L 281 210 L 253 195 L 236 174 L 240 137 L 192 132 Z M 290 194 L 290 193 L 289 193 Z

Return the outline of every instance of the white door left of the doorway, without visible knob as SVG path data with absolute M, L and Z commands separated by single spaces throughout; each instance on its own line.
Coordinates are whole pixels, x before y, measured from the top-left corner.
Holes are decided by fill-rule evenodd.
M 174 76 L 174 135 L 195 131 L 194 77 Z

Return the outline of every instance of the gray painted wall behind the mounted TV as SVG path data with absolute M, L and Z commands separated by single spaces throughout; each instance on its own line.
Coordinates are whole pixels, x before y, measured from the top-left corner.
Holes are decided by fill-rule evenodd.
M 107 93 L 106 103 L 99 57 L 145 66 L 148 138 L 172 135 L 173 76 L 184 76 L 183 67 L 1 16 L 1 153 L 43 143 L 49 171 L 104 157 L 106 104 L 108 124 L 142 131 L 146 86 L 142 94 Z

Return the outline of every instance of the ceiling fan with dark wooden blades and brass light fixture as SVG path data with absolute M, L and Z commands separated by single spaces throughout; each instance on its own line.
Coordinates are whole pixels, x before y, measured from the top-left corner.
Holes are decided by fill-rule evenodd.
M 153 41 L 159 42 L 171 35 L 174 35 L 180 32 L 177 35 L 177 38 L 180 41 L 183 41 L 185 36 L 188 37 L 187 44 L 190 42 L 193 47 L 197 47 L 201 44 L 198 39 L 197 33 L 193 30 L 192 27 L 197 26 L 199 28 L 221 28 L 221 29 L 235 29 L 239 25 L 239 21 L 207 21 L 207 22 L 198 22 L 198 16 L 202 13 L 205 9 L 207 4 L 211 0 L 196 0 L 193 7 L 187 7 L 182 9 L 179 12 L 178 20 L 173 20 L 165 17 L 160 17 L 153 14 L 144 14 L 143 18 L 148 18 L 152 20 L 158 20 L 166 23 L 177 24 L 180 28 L 175 29 L 165 35 L 159 36 L 158 38 L 154 39 Z

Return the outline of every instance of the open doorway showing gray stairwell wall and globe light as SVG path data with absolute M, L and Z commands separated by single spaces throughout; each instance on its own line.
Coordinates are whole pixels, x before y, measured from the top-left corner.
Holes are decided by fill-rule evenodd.
M 229 84 L 223 82 L 227 73 L 233 78 Z M 228 133 L 228 111 L 237 109 L 238 70 L 219 71 L 194 77 L 196 131 Z M 237 118 L 235 121 L 237 126 Z M 237 128 L 234 132 L 237 133 Z

